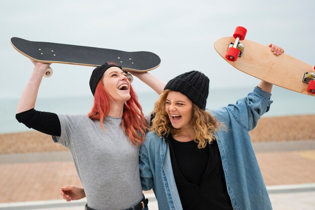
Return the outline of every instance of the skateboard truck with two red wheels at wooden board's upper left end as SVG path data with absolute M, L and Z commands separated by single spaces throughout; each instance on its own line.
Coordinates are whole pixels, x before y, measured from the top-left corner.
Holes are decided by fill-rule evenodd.
M 233 37 L 235 38 L 234 44 L 231 42 L 228 45 L 225 58 L 229 61 L 236 61 L 238 57 L 242 57 L 244 52 L 244 45 L 240 42 L 240 40 L 244 40 L 247 33 L 247 29 L 238 26 L 233 34 Z M 235 44 L 236 43 L 236 44 Z

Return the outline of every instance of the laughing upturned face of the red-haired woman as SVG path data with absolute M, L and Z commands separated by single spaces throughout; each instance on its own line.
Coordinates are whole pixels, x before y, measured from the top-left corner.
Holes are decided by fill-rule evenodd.
M 130 81 L 120 68 L 108 68 L 102 77 L 102 82 L 116 102 L 124 103 L 130 99 Z

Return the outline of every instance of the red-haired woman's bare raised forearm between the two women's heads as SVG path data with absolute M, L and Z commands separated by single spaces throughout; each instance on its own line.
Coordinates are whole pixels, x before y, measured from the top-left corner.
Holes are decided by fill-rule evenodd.
M 138 77 L 142 82 L 147 84 L 151 87 L 157 94 L 161 94 L 166 82 L 162 81 L 161 79 L 155 77 L 154 75 L 150 74 L 149 72 L 131 72 L 133 75 Z

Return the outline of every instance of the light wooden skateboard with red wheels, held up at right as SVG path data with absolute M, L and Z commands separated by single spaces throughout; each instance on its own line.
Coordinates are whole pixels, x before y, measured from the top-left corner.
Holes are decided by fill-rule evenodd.
M 245 28 L 237 27 L 233 37 L 224 37 L 214 43 L 215 50 L 226 62 L 244 73 L 315 96 L 315 67 L 285 53 L 275 56 L 269 47 L 245 40 L 246 33 Z

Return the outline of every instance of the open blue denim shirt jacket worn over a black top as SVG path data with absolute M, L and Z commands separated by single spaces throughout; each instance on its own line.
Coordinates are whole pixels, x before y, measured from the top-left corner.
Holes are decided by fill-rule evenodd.
M 224 124 L 215 137 L 233 209 L 272 209 L 248 133 L 268 112 L 272 103 L 270 96 L 270 93 L 255 87 L 253 92 L 235 104 L 210 111 Z M 163 137 L 154 132 L 147 133 L 139 152 L 139 167 L 142 188 L 153 189 L 159 209 L 183 209 L 169 145 Z

